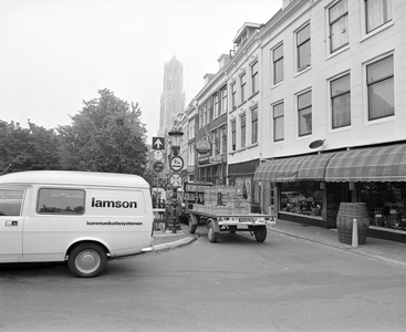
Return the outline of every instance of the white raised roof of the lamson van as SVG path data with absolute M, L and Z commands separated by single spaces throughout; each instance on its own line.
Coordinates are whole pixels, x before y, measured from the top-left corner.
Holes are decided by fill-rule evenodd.
M 41 184 L 41 185 L 77 185 L 77 186 L 108 186 L 126 188 L 149 188 L 148 183 L 137 175 L 74 172 L 74 170 L 28 170 L 15 172 L 0 176 L 3 184 Z

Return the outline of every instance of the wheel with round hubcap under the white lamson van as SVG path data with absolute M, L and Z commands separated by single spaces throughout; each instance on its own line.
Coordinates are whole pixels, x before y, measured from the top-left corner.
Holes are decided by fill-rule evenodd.
M 83 243 L 74 247 L 69 255 L 67 268 L 72 274 L 81 278 L 98 276 L 106 267 L 105 250 L 96 243 Z

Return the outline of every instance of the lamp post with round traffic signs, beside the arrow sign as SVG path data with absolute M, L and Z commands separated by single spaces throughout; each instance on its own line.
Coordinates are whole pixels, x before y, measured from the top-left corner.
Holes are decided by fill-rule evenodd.
M 184 168 L 184 159 L 179 156 L 180 141 L 184 132 L 180 128 L 174 128 L 168 133 L 170 138 L 170 148 L 173 151 L 173 157 L 169 160 L 169 168 L 173 170 L 169 175 L 169 184 L 173 188 L 173 207 L 174 207 L 174 228 L 176 234 L 176 227 L 178 222 L 178 209 L 181 208 L 181 203 L 178 201 L 177 189 L 181 186 L 180 170 Z

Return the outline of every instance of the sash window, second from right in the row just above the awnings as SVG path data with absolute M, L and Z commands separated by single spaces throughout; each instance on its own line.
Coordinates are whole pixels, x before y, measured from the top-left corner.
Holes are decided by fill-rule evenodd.
M 350 74 L 331 82 L 332 127 L 351 125 Z

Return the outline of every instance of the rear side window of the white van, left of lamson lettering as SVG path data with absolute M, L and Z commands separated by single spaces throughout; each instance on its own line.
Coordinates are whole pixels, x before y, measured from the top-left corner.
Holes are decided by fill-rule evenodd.
M 37 212 L 46 215 L 83 215 L 84 190 L 41 188 Z

